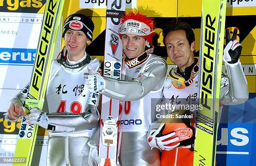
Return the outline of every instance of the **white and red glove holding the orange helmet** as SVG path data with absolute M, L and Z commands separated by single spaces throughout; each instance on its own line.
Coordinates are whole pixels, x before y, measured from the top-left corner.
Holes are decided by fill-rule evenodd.
M 170 151 L 170 150 L 176 148 L 177 146 L 179 146 L 179 144 L 180 144 L 179 142 L 174 143 L 174 142 L 179 141 L 179 137 L 172 138 L 172 136 L 176 135 L 175 132 L 162 135 L 164 126 L 165 126 L 165 124 L 161 124 L 161 126 L 157 130 L 150 131 L 150 134 L 148 136 L 148 144 L 151 146 L 151 148 L 157 148 L 160 150 Z M 168 145 L 171 143 L 173 143 L 173 144 Z

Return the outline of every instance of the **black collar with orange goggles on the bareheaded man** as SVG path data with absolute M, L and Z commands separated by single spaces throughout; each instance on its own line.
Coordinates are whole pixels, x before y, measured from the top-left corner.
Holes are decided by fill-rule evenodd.
M 181 72 L 179 68 L 171 69 L 168 77 L 172 79 L 172 84 L 177 89 L 183 89 L 193 83 L 193 79 L 199 70 L 199 61 L 195 58 L 195 62 L 185 68 L 185 72 Z

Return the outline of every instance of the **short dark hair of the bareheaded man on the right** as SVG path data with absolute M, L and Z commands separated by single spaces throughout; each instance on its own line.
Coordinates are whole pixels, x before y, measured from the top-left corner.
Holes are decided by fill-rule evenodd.
M 176 31 L 176 30 L 184 30 L 186 32 L 186 37 L 189 42 L 189 45 L 191 46 L 191 43 L 195 41 L 195 34 L 190 27 L 190 25 L 186 22 L 183 22 L 181 20 L 172 20 L 167 22 L 167 24 L 164 26 L 163 35 L 164 35 L 164 45 L 165 43 L 165 37 L 169 32 Z

